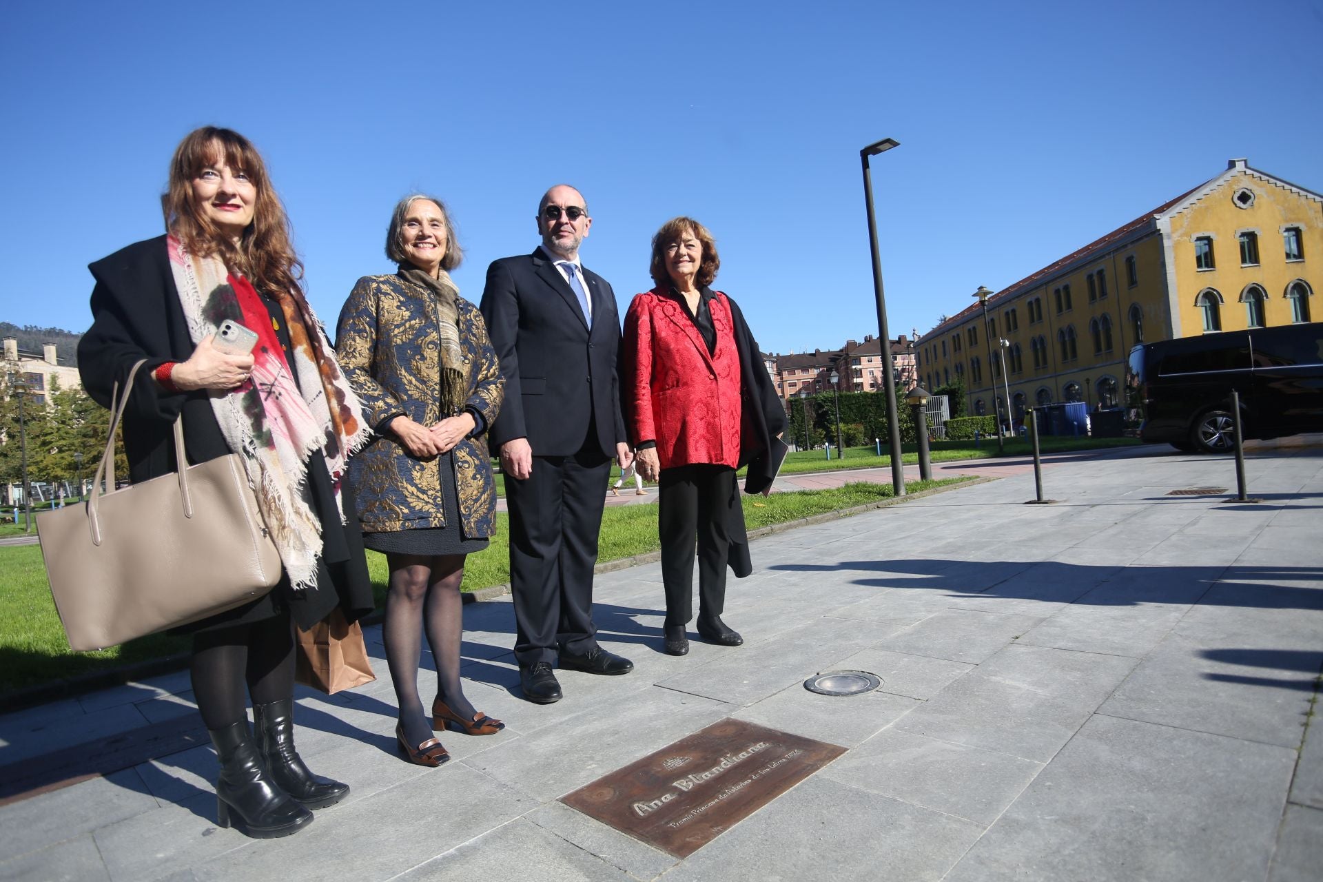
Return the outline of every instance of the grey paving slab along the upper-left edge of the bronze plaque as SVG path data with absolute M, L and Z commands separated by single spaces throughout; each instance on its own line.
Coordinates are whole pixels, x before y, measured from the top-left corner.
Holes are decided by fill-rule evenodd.
M 610 705 L 598 703 L 463 763 L 546 801 L 695 733 L 730 710 L 729 705 L 701 696 L 650 686 L 644 693 Z

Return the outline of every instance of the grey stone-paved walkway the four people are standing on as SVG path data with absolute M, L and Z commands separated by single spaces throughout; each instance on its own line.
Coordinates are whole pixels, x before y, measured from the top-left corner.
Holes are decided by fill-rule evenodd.
M 1323 448 L 1248 475 L 1257 505 L 1170 496 L 1234 489 L 1230 461 L 1107 451 L 1046 469 L 1057 505 L 1021 472 L 777 533 L 729 586 L 746 644 L 681 659 L 660 567 L 605 574 L 599 637 L 636 669 L 562 672 L 549 706 L 517 697 L 508 599 L 471 604 L 468 696 L 508 729 L 442 734 L 437 770 L 394 751 L 369 629 L 377 682 L 299 693 L 300 752 L 353 793 L 284 840 L 214 825 L 187 674 L 11 714 L 0 766 L 65 771 L 0 807 L 0 878 L 1316 879 Z M 832 669 L 882 686 L 800 685 Z M 726 717 L 848 750 L 683 861 L 557 801 Z

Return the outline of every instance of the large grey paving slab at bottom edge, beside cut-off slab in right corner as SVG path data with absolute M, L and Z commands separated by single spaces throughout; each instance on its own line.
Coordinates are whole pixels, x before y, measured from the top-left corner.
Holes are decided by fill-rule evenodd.
M 1093 717 L 949 882 L 1262 879 L 1291 751 Z

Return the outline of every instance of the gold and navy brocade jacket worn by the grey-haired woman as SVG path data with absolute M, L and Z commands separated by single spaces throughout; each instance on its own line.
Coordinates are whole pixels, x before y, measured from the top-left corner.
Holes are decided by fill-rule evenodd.
M 466 540 L 496 530 L 496 488 L 482 434 L 500 413 L 505 382 L 487 325 L 478 307 L 463 298 L 459 340 L 468 380 L 464 410 L 476 411 L 479 430 L 454 448 L 460 532 Z M 363 401 L 377 436 L 349 461 L 349 484 L 359 499 L 359 520 L 368 533 L 386 533 L 455 524 L 445 512 L 439 459 L 421 460 L 382 422 L 406 414 L 422 426 L 445 417 L 441 410 L 441 315 L 435 296 L 398 275 L 359 279 L 340 311 L 336 357 Z

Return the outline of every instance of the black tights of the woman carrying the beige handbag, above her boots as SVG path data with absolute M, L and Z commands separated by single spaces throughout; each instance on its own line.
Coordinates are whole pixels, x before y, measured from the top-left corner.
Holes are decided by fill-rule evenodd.
M 294 696 L 294 627 L 278 615 L 193 635 L 193 698 L 208 729 L 247 719 L 247 696 L 263 705 Z M 246 694 L 245 694 L 246 693 Z

